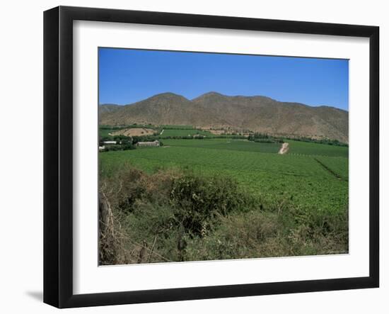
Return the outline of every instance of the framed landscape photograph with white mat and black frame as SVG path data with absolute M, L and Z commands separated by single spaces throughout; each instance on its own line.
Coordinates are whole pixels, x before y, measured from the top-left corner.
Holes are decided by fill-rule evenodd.
M 376 26 L 44 14 L 44 301 L 379 284 Z

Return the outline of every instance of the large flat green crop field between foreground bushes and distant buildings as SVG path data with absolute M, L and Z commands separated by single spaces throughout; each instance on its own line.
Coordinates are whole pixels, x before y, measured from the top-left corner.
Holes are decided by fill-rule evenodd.
M 101 174 L 110 176 L 125 163 L 148 173 L 190 169 L 231 176 L 240 189 L 265 202 L 285 198 L 303 208 L 330 212 L 348 205 L 348 158 L 339 157 L 347 156 L 347 147 L 292 142 L 289 153 L 279 155 L 280 144 L 247 140 L 163 140 L 163 144 L 147 150 L 104 152 L 100 154 Z M 306 154 L 297 155 L 296 150 Z

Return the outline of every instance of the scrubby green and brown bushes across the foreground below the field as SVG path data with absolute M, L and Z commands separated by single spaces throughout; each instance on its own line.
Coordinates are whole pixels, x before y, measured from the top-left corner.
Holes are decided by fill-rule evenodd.
M 146 174 L 122 165 L 100 174 L 113 212 L 111 236 L 100 236 L 110 254 L 100 264 L 348 252 L 347 206 L 302 208 L 285 196 L 264 206 L 228 176 L 174 169 Z

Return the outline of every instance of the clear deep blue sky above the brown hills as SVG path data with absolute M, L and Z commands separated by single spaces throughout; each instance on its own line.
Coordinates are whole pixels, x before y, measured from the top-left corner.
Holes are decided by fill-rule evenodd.
M 100 104 L 134 103 L 167 91 L 194 99 L 216 91 L 349 106 L 348 60 L 102 47 L 98 53 Z

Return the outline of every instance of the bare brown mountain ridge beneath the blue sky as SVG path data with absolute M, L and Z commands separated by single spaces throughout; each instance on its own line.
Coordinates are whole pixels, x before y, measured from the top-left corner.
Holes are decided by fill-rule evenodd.
M 193 99 L 164 93 L 126 106 L 102 105 L 105 125 L 151 123 L 203 128 L 246 129 L 272 135 L 349 140 L 349 113 L 330 107 L 275 101 L 265 96 L 226 96 L 209 92 Z

